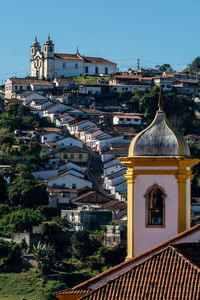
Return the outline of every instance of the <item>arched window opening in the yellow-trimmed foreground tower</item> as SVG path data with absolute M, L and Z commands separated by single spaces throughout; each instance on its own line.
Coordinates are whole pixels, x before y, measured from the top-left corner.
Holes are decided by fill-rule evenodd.
M 146 227 L 165 227 L 166 194 L 164 189 L 154 184 L 147 190 L 144 197 L 146 199 Z

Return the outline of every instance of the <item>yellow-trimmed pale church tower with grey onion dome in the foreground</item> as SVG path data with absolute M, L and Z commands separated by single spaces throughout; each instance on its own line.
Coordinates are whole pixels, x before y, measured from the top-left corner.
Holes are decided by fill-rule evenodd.
M 127 259 L 190 227 L 192 167 L 184 138 L 167 121 L 162 92 L 153 122 L 135 136 L 128 157 Z

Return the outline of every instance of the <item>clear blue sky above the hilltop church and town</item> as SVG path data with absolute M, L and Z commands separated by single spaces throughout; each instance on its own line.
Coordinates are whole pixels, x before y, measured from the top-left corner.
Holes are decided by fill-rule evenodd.
M 9 0 L 0 5 L 0 84 L 30 72 L 30 46 L 50 33 L 55 52 L 98 56 L 120 70 L 200 56 L 199 0 Z

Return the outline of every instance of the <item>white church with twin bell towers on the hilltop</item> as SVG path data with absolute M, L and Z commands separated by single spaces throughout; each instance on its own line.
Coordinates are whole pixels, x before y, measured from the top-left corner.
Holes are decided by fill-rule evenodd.
M 111 75 L 116 72 L 117 65 L 100 57 L 82 56 L 78 49 L 76 54 L 54 52 L 54 43 L 48 36 L 41 51 L 40 43 L 35 38 L 31 46 L 31 77 L 53 79 L 79 75 Z

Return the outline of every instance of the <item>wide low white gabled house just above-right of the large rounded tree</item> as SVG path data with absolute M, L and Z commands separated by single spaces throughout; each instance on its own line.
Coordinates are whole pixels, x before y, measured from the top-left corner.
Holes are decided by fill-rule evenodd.
M 45 180 L 45 183 L 51 188 L 65 187 L 68 189 L 80 189 L 85 186 L 92 188 L 90 181 L 69 173 L 49 178 Z

